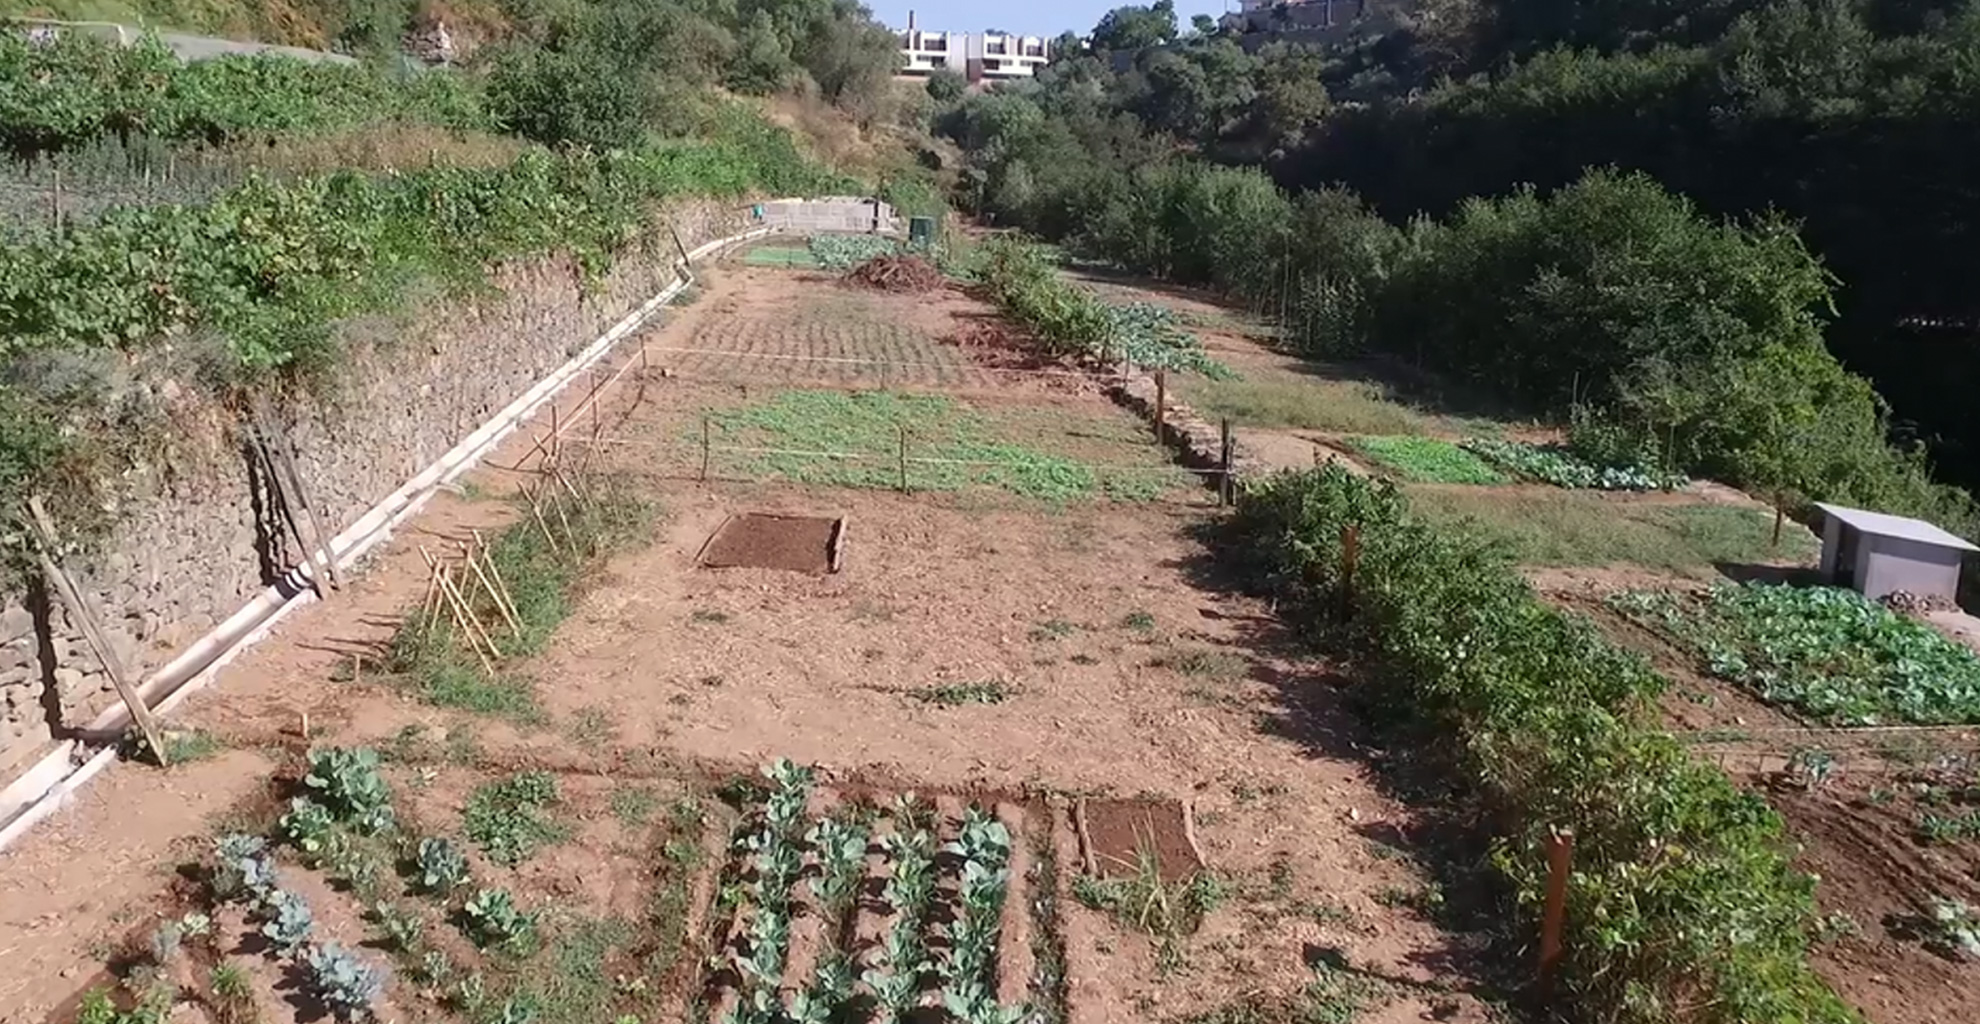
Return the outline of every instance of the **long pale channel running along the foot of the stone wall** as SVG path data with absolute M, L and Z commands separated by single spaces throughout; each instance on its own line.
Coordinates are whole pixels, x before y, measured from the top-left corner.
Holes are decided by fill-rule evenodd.
M 772 234 L 772 228 L 752 228 L 748 232 L 717 238 L 691 254 L 687 254 L 687 263 L 705 259 L 707 256 L 725 250 L 729 246 L 750 242 Z M 626 319 L 612 325 L 610 331 L 594 339 L 582 353 L 572 357 L 568 362 L 558 366 L 550 376 L 539 380 L 533 388 L 523 392 L 507 408 L 491 416 L 485 424 L 475 428 L 473 434 L 461 438 L 446 456 L 440 456 L 432 465 L 408 479 L 390 497 L 372 505 L 354 523 L 345 527 L 331 543 L 331 557 L 339 566 L 356 564 L 370 549 L 378 547 L 392 529 L 416 515 L 446 483 L 451 483 L 461 473 L 471 469 L 483 456 L 487 456 L 503 438 L 523 426 L 544 402 L 556 398 L 566 384 L 578 378 L 578 374 L 590 370 L 598 360 L 608 357 L 612 349 L 638 331 L 647 319 L 653 317 L 661 307 L 673 301 L 693 277 L 689 265 L 683 263 L 679 275 L 669 283 L 659 295 L 653 295 L 640 309 L 634 309 Z M 251 644 L 267 636 L 277 622 L 281 622 L 289 612 L 315 600 L 317 592 L 311 586 L 311 574 L 307 559 L 303 564 L 291 568 L 281 580 L 265 588 L 261 594 L 244 604 L 232 618 L 222 622 L 214 632 L 196 640 L 178 658 L 168 662 L 158 671 L 150 673 L 141 685 L 139 695 L 156 713 L 168 713 L 180 705 L 190 693 L 208 685 L 214 675 L 240 652 L 248 650 Z M 131 711 L 117 705 L 103 715 L 97 715 L 93 723 L 85 729 L 91 737 L 115 737 L 121 735 L 131 719 Z M 105 745 L 101 751 L 93 753 L 81 765 L 73 765 L 73 759 L 81 753 L 83 743 L 75 739 L 63 741 L 53 753 L 38 761 L 26 774 L 22 774 L 6 790 L 0 790 L 0 850 L 6 850 L 14 840 L 28 834 L 38 822 L 53 814 L 63 802 L 69 800 L 83 784 L 97 776 L 103 768 L 117 759 L 117 745 Z

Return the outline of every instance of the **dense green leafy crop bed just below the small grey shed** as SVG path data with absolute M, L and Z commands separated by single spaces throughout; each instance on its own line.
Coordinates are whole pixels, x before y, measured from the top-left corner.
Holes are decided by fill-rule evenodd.
M 1695 650 L 1713 675 L 1832 725 L 1980 723 L 1980 658 L 1853 590 L 1723 584 L 1610 604 Z

